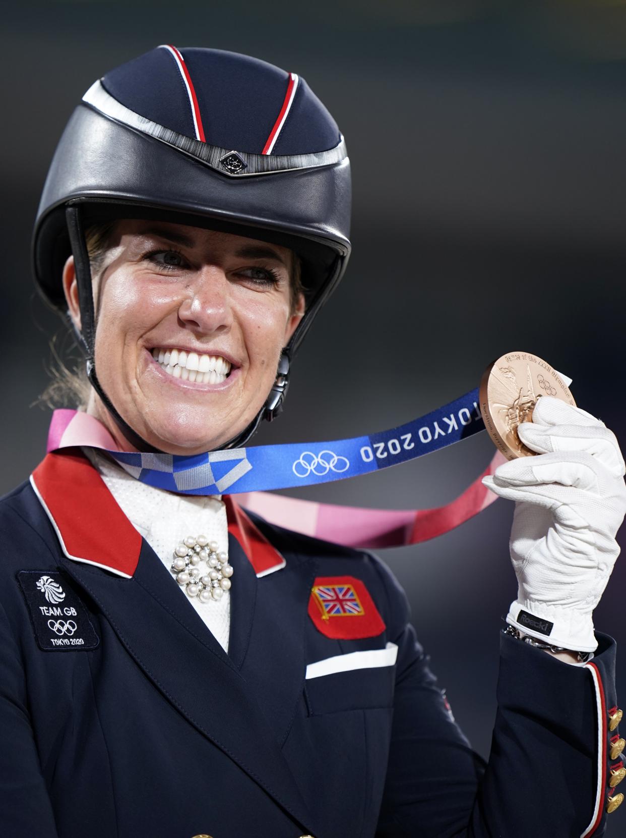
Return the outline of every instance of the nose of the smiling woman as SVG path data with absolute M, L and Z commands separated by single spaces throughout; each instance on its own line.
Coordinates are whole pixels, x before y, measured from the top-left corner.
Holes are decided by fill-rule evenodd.
M 233 309 L 228 293 L 228 278 L 219 266 L 204 266 L 187 287 L 187 296 L 178 309 L 183 325 L 194 332 L 228 332 L 233 324 Z

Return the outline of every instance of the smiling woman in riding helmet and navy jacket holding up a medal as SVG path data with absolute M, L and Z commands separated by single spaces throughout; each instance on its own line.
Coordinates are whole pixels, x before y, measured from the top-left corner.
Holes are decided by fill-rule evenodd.
M 0 507 L 4 834 L 601 835 L 621 802 L 614 642 L 591 614 L 623 460 L 593 416 L 542 399 L 520 431 L 541 457 L 491 484 L 517 502 L 520 587 L 486 766 L 380 561 L 193 495 L 172 466 L 280 411 L 348 215 L 335 122 L 255 59 L 160 47 L 70 119 L 34 259 L 85 347 L 91 436 Z M 172 469 L 181 494 L 150 476 Z

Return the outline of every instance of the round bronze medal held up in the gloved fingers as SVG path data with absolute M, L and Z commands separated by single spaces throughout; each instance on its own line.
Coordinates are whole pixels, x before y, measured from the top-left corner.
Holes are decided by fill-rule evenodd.
M 508 352 L 490 364 L 480 381 L 480 413 L 495 446 L 513 460 L 535 454 L 517 434 L 521 422 L 532 422 L 537 400 L 554 396 L 576 405 L 561 375 L 529 352 Z

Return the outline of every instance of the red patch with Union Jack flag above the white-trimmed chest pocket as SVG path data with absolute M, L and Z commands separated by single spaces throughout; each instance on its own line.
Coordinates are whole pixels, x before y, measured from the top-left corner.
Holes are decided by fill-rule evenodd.
M 321 634 L 336 640 L 375 637 L 385 630 L 367 587 L 355 577 L 317 577 L 309 616 Z

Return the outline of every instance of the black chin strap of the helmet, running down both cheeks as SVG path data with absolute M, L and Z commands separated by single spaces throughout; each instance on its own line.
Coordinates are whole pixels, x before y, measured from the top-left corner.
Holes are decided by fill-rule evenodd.
M 86 370 L 90 385 L 95 392 L 100 396 L 102 404 L 110 413 L 110 416 L 115 421 L 115 424 L 120 429 L 121 433 L 126 437 L 137 451 L 146 453 L 162 453 L 159 448 L 154 447 L 149 442 L 141 437 L 131 426 L 124 420 L 120 413 L 115 409 L 109 396 L 106 395 L 98 375 L 95 372 L 95 308 L 93 287 L 91 284 L 91 266 L 87 246 L 85 242 L 85 233 L 83 230 L 83 223 L 80 213 L 80 204 L 69 204 L 65 208 L 65 219 L 69 233 L 69 243 L 74 255 L 74 271 L 76 273 L 76 283 L 79 291 L 79 307 L 80 307 L 80 324 L 81 330 L 78 333 L 80 344 L 86 356 Z M 254 435 L 259 427 L 261 419 L 265 418 L 268 422 L 272 422 L 276 416 L 282 412 L 283 404 L 287 388 L 289 386 L 289 369 L 290 369 L 290 349 L 286 347 L 280 355 L 278 370 L 276 373 L 275 384 L 269 391 L 269 396 L 265 401 L 264 406 L 259 413 L 250 422 L 249 426 L 244 428 L 244 431 L 239 433 L 236 437 L 226 442 L 222 448 L 236 448 L 242 447 Z

